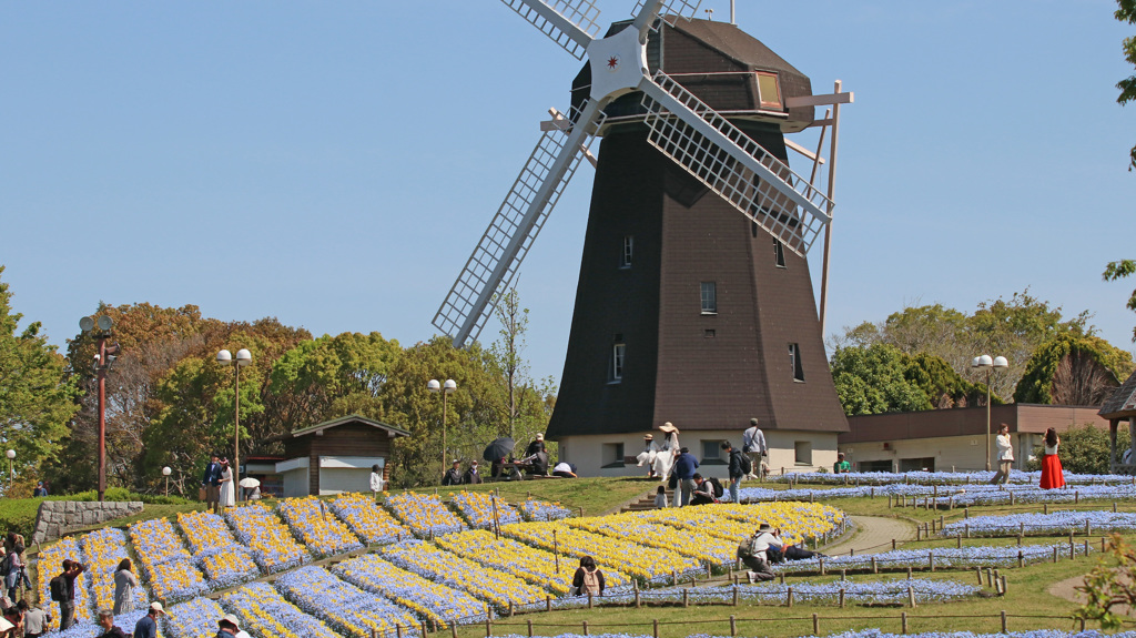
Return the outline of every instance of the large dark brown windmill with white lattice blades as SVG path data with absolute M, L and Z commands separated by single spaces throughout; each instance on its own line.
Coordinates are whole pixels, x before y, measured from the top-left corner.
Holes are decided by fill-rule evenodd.
M 772 429 L 845 431 L 804 262 L 832 219 L 832 182 L 826 193 L 794 173 L 785 151 L 794 145 L 783 134 L 815 125 L 815 106 L 847 102 L 851 94 L 812 95 L 807 77 L 736 26 L 693 19 L 699 1 L 640 0 L 634 18 L 603 37 L 591 0 L 502 1 L 587 64 L 568 114 L 553 112 L 543 127 L 434 326 L 458 346 L 476 338 L 601 136 L 573 331 L 549 427 L 562 442 L 561 457 L 567 439 L 600 436 L 611 442 L 588 445 L 603 446 L 602 463 L 621 464 L 624 439 L 611 435 L 665 420 L 708 434 L 736 428 L 738 436 L 750 415 Z M 817 154 L 800 150 L 813 159 L 815 177 L 819 146 Z M 707 237 L 711 245 L 691 253 Z M 785 280 L 758 272 L 759 244 L 775 267 L 792 262 Z M 716 272 L 727 271 L 719 282 Z M 676 302 L 687 293 L 695 304 L 701 296 L 693 313 Z M 734 305 L 719 312 L 719 301 Z M 684 331 L 700 343 L 683 343 Z M 786 362 L 788 376 L 772 378 L 771 369 Z M 730 380 L 708 384 L 718 371 Z M 835 459 L 835 434 L 810 436 L 810 450 L 832 448 Z M 786 443 L 800 451 L 799 444 Z M 577 463 L 599 457 L 573 450 Z

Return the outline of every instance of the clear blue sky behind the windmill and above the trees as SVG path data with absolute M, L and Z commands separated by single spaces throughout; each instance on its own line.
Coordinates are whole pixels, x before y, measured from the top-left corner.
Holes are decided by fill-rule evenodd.
M 1131 347 L 1136 280 L 1101 280 L 1136 257 L 1113 0 L 738 5 L 855 92 L 826 331 L 1029 286 Z M 578 67 L 493 0 L 0 3 L 3 280 L 59 345 L 100 300 L 426 339 Z M 534 376 L 561 372 L 593 175 L 521 270 Z

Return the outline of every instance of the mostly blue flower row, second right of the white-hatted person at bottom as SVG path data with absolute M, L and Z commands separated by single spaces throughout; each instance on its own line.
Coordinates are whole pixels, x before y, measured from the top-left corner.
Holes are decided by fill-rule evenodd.
M 279 590 L 300 610 L 328 622 L 341 635 L 370 638 L 371 631 L 393 635 L 416 627 L 415 619 L 393 603 L 368 594 L 332 576 L 323 568 L 306 566 L 276 581 Z

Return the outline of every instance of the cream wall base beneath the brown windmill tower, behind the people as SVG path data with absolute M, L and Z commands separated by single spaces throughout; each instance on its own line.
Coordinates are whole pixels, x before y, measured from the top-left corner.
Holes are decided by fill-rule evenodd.
M 617 463 L 615 448 L 623 444 L 624 456 L 634 457 L 643 451 L 643 435 L 613 434 L 613 435 L 588 435 L 567 436 L 558 442 L 560 445 L 560 460 L 574 463 L 576 471 L 585 477 L 634 477 L 646 476 L 646 467 L 638 468 L 635 462 Z M 662 433 L 652 433 L 658 439 Z M 766 444 L 769 446 L 769 469 L 772 473 L 779 473 L 784 468 L 785 472 L 812 472 L 820 468 L 832 470 L 836 462 L 836 433 L 819 433 L 804 430 L 770 430 L 766 431 Z M 728 457 L 721 454 L 718 457 L 707 456 L 704 447 L 711 447 L 716 452 L 720 451 L 722 440 L 729 440 L 737 448 L 742 448 L 742 433 L 740 430 L 701 430 L 679 433 L 678 443 L 690 447 L 691 453 L 699 460 L 699 473 L 705 477 L 726 478 L 729 465 Z M 797 451 L 802 453 L 802 462 L 797 462 Z M 611 467 L 616 465 L 616 467 Z

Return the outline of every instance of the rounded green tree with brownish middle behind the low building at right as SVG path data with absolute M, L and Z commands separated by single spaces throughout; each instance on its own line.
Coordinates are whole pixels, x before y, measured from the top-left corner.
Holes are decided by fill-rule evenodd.
M 1133 370 L 1131 355 L 1094 336 L 1058 335 L 1026 362 L 1018 403 L 1100 405 Z

